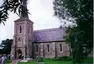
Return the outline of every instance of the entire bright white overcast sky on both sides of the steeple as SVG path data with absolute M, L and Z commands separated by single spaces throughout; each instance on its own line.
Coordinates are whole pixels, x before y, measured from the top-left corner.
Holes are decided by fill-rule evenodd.
M 34 30 L 58 28 L 60 21 L 54 16 L 54 0 L 28 0 L 29 19 L 34 22 Z M 2 1 L 0 0 L 0 4 Z M 7 38 L 13 39 L 14 20 L 19 17 L 14 13 L 9 13 L 9 18 L 5 26 L 0 24 L 0 43 Z

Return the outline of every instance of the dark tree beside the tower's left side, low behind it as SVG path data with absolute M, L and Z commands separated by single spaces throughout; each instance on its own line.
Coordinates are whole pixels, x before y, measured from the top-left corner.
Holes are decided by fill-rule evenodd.
M 1 43 L 1 52 L 2 54 L 10 54 L 10 51 L 11 51 L 11 46 L 12 46 L 12 43 L 13 43 L 13 39 L 6 39 L 6 40 L 3 40 L 2 43 Z

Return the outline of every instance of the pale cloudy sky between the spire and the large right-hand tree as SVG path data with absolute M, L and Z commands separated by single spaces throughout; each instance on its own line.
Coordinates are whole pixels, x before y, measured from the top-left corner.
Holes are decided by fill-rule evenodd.
M 53 17 L 53 0 L 29 0 L 30 19 L 34 22 L 34 29 L 46 29 L 59 26 L 59 20 Z M 54 23 L 54 24 L 53 24 Z

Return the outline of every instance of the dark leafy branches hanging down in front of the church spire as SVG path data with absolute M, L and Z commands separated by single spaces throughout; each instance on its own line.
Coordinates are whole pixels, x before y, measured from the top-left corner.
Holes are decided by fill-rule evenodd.
M 0 23 L 8 18 L 9 11 L 16 13 L 20 18 L 28 17 L 27 0 L 4 0 L 0 6 Z

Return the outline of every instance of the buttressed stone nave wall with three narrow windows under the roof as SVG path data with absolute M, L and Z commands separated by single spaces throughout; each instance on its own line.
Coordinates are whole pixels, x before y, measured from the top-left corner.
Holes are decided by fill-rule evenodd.
M 69 46 L 65 42 L 34 43 L 33 46 L 35 57 L 54 58 L 70 55 Z

